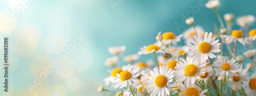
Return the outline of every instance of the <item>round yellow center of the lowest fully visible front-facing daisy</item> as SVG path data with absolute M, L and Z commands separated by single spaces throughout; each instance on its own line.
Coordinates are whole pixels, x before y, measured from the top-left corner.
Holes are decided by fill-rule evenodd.
M 163 75 L 159 75 L 155 79 L 155 84 L 157 87 L 164 87 L 167 84 L 167 78 Z

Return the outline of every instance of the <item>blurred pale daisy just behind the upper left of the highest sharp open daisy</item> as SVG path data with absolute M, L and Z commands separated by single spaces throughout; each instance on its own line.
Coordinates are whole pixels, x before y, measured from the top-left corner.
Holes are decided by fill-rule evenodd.
M 195 29 L 196 29 L 197 33 L 200 35 L 205 33 L 204 29 L 200 26 L 196 26 Z M 190 39 L 197 35 L 195 29 L 193 27 L 191 27 L 183 33 L 183 39 L 186 40 L 185 41 L 186 44 L 191 43 Z

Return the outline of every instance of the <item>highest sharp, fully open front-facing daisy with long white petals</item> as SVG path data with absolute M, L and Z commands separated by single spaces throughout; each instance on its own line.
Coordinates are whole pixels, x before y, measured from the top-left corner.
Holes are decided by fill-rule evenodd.
M 208 57 L 210 58 L 216 58 L 216 56 L 213 53 L 221 52 L 219 39 L 216 40 L 215 37 L 211 37 L 212 33 L 206 32 L 204 35 L 204 38 L 202 38 L 200 35 L 194 36 L 193 39 L 191 39 L 191 42 L 194 44 L 188 44 L 189 51 L 188 56 L 194 57 L 196 61 L 200 61 L 200 63 L 205 62 L 205 60 L 208 60 Z

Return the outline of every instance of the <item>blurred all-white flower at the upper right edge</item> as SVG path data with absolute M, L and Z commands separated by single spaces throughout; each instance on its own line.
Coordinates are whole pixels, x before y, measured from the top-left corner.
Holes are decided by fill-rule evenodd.
M 246 15 L 246 16 L 241 16 L 237 18 L 237 24 L 240 27 L 250 26 L 254 21 L 255 21 L 255 17 L 253 15 Z

